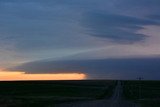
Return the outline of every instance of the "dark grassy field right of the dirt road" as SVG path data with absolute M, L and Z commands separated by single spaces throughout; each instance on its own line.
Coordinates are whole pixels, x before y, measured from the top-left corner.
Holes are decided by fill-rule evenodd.
M 160 107 L 160 81 L 123 81 L 123 91 L 142 107 Z

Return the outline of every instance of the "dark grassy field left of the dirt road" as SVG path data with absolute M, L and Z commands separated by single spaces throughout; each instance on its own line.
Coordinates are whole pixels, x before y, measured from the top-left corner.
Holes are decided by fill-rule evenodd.
M 46 107 L 55 103 L 102 99 L 112 95 L 115 81 L 0 82 L 0 107 Z

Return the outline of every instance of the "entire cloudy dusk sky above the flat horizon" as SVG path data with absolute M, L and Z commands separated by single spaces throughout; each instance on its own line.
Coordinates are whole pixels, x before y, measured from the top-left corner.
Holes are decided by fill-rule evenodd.
M 0 80 L 160 80 L 159 0 L 0 0 Z

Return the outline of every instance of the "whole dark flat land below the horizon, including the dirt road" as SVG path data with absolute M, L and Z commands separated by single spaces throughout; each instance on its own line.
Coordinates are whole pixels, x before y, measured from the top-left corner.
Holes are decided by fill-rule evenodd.
M 160 107 L 160 81 L 1 81 L 0 107 Z

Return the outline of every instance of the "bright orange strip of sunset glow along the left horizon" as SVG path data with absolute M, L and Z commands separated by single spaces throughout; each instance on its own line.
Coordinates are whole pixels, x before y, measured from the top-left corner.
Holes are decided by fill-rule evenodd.
M 83 80 L 83 73 L 58 73 L 58 74 L 25 74 L 25 72 L 13 72 L 0 70 L 0 81 L 14 80 Z

